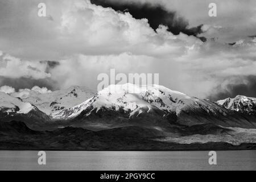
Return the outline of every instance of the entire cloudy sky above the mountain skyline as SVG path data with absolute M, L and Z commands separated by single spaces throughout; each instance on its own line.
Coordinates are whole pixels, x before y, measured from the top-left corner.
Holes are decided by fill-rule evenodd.
M 0 90 L 96 90 L 111 68 L 190 96 L 256 97 L 256 1 L 0 0 Z

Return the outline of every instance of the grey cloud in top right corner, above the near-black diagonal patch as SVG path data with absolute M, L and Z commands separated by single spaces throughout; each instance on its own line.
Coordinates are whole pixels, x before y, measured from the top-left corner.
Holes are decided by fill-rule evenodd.
M 114 3 L 149 2 L 153 5 L 162 4 L 165 9 L 176 11 L 178 15 L 188 20 L 190 27 L 208 24 L 211 27 L 223 27 L 214 34 L 222 43 L 236 42 L 256 32 L 256 1 L 255 0 L 108 0 Z M 208 15 L 209 3 L 216 3 L 217 17 Z M 185 6 L 184 6 L 185 5 Z M 213 34 L 203 34 L 213 38 Z

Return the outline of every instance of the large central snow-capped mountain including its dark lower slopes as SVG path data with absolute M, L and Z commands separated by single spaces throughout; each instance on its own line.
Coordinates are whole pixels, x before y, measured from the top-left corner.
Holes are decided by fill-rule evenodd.
M 237 113 L 216 102 L 189 97 L 159 85 L 110 85 L 85 102 L 52 115 L 52 119 L 66 119 L 79 127 L 90 126 L 93 129 L 120 125 L 166 128 L 170 123 L 183 126 L 214 123 L 224 127 L 256 127 L 255 115 Z

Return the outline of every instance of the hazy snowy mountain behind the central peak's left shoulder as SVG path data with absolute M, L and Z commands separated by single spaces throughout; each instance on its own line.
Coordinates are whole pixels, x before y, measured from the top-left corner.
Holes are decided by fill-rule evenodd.
M 40 111 L 53 117 L 62 110 L 81 104 L 93 97 L 92 90 L 82 86 L 72 86 L 65 90 L 57 90 L 51 93 L 40 94 L 38 92 L 26 90 L 19 94 L 11 94 L 13 97 L 19 97 L 24 102 L 29 102 L 38 107 Z

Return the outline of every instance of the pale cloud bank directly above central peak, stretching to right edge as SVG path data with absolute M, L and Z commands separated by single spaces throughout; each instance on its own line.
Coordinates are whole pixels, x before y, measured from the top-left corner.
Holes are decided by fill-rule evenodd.
M 223 80 L 255 75 L 256 44 L 229 46 L 218 42 L 193 44 L 179 57 L 119 55 L 77 55 L 61 60 L 51 71 L 60 88 L 86 85 L 97 88 L 97 75 L 115 68 L 121 73 L 159 73 L 160 84 L 190 96 L 207 97 Z

